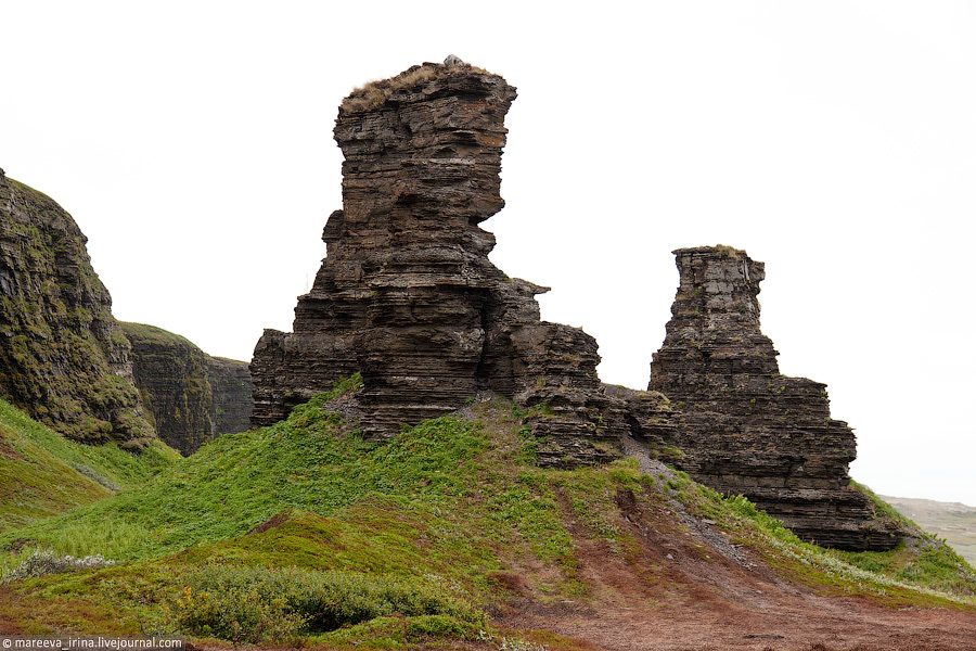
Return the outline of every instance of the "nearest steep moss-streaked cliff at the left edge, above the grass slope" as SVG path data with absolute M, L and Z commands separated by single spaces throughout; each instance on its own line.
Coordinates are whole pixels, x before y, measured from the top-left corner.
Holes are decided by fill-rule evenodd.
M 0 170 L 0 393 L 75 441 L 140 447 L 155 434 L 86 242 L 61 206 Z

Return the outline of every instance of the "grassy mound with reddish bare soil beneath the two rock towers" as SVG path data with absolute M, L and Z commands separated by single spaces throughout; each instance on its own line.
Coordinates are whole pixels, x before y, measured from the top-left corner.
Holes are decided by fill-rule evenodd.
M 933 538 L 829 551 L 648 458 L 543 470 L 502 399 L 364 442 L 337 412 L 352 384 L 142 487 L 0 533 L 8 578 L 35 575 L 0 585 L 0 633 L 575 650 L 608 635 L 587 622 L 627 613 L 646 626 L 719 609 L 732 626 L 740 609 L 758 626 L 750 599 L 976 612 L 976 575 Z M 44 574 L 63 554 L 116 563 Z

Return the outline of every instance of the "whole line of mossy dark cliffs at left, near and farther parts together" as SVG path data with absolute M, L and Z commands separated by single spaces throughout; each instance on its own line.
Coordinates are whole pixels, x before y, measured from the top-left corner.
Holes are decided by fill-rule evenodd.
M 137 449 L 158 435 L 189 455 L 246 430 L 247 365 L 116 321 L 87 241 L 57 203 L 0 170 L 0 397 L 88 444 Z

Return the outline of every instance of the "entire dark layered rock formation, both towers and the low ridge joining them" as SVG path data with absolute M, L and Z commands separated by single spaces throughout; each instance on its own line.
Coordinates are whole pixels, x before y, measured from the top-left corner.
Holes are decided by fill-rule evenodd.
M 763 266 L 729 247 L 676 252 L 681 288 L 651 390 L 600 383 L 596 342 L 539 319 L 535 295 L 489 260 L 479 225 L 499 194 L 503 119 L 515 89 L 449 58 L 354 91 L 335 138 L 343 209 L 326 258 L 298 297 L 294 332 L 265 331 L 251 366 L 253 423 L 359 371 L 367 436 L 459 408 L 481 391 L 522 407 L 544 465 L 574 467 L 626 448 L 744 494 L 800 536 L 887 549 L 892 523 L 849 487 L 851 430 L 823 384 L 779 374 L 759 330 Z

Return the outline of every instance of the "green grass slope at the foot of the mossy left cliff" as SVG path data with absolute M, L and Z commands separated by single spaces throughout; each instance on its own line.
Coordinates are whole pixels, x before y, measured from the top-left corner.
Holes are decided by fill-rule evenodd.
M 177 458 L 158 442 L 140 452 L 77 444 L 0 399 L 0 532 L 132 488 Z

